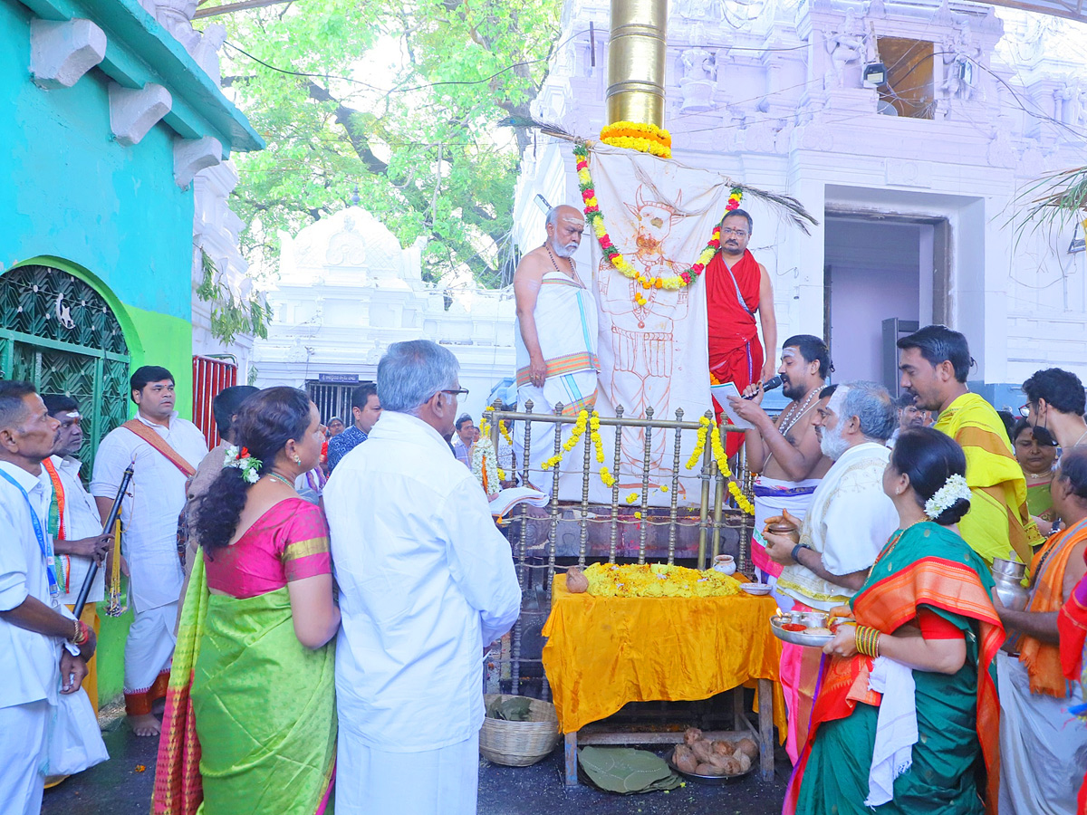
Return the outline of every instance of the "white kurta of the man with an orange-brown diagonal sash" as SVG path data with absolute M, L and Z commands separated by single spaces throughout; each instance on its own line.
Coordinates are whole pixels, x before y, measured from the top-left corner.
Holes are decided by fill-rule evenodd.
M 175 413 L 170 427 L 137 418 L 152 428 L 196 468 L 208 454 L 203 434 Z M 122 553 L 132 580 L 128 597 L 137 612 L 176 603 L 185 573 L 177 556 L 177 516 L 185 505 L 186 476 L 166 456 L 124 427 L 98 447 L 90 494 L 113 499 L 125 467 L 135 462 L 129 498 L 121 502 L 125 534 Z

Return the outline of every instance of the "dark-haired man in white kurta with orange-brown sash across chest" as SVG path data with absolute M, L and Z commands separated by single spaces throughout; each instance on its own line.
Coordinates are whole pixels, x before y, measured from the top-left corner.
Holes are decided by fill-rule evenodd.
M 157 365 L 132 375 L 136 418 L 98 447 L 90 494 L 104 519 L 133 465 L 121 502 L 121 548 L 128 564 L 128 601 L 135 619 L 125 642 L 125 711 L 137 736 L 158 736 L 152 702 L 166 695 L 174 654 L 174 624 L 185 572 L 177 552 L 177 522 L 186 481 L 208 454 L 203 434 L 174 411 L 174 377 Z

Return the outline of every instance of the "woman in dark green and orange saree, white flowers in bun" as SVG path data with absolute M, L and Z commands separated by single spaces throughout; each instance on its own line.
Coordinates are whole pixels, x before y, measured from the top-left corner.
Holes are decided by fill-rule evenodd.
M 824 648 L 811 730 L 784 812 L 996 815 L 994 657 L 1004 630 L 985 562 L 959 536 L 966 460 L 904 430 L 884 475 L 900 529 Z

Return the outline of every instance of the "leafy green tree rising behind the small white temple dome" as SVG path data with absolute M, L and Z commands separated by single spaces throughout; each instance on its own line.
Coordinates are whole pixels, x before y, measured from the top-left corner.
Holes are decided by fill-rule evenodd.
M 402 244 L 428 240 L 428 279 L 471 269 L 499 285 L 530 135 L 496 125 L 528 117 L 560 8 L 307 0 L 218 17 L 224 85 L 268 143 L 237 158 L 243 251 L 273 258 L 277 230 L 297 233 L 358 189 Z

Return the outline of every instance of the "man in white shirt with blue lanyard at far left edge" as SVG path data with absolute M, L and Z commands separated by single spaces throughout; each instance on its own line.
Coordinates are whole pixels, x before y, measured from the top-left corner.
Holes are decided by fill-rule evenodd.
M 58 422 L 34 386 L 0 383 L 0 810 L 41 810 L 46 737 L 58 691 L 74 693 L 95 635 L 60 602 L 48 532 L 52 485 L 41 466 Z M 79 645 L 62 647 L 65 642 Z

